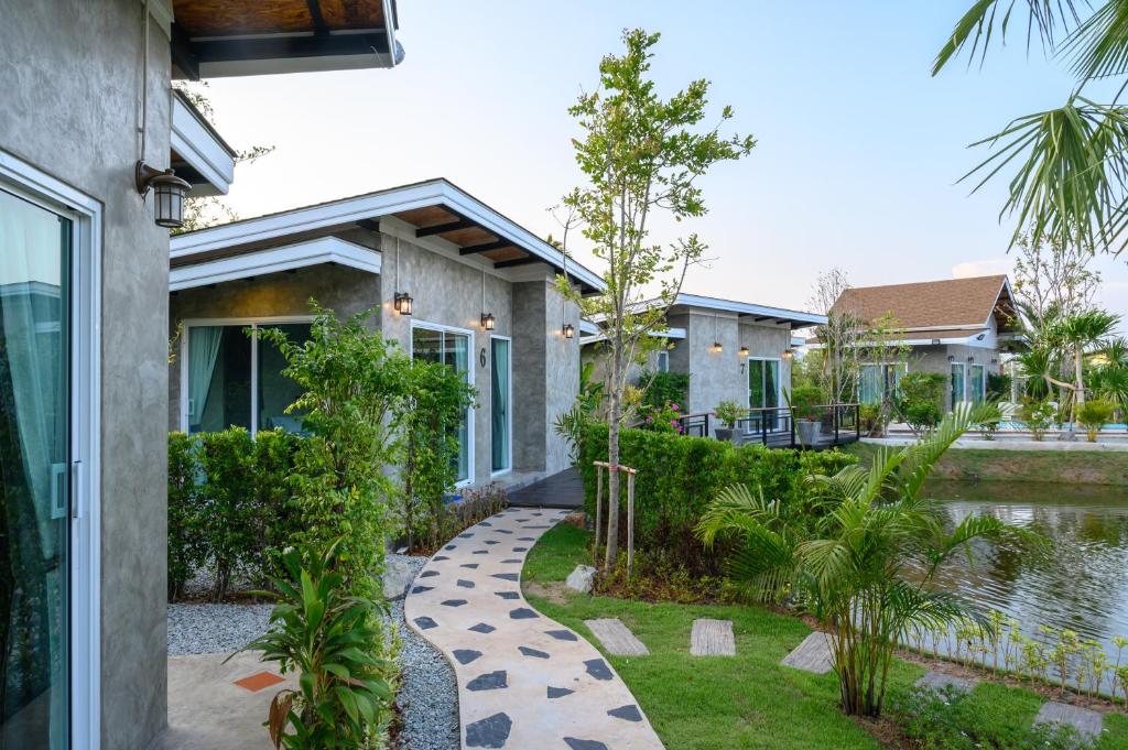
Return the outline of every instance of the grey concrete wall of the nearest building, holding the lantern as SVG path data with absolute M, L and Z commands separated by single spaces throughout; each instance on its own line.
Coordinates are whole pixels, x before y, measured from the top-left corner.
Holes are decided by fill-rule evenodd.
M 135 750 L 166 716 L 168 230 L 133 187 L 168 162 L 168 39 L 136 0 L 8 2 L 0 21 L 0 149 L 102 201 L 102 747 Z

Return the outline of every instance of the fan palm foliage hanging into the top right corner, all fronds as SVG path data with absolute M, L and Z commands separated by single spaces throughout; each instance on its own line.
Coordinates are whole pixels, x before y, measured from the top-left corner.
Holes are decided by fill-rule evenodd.
M 1026 18 L 1028 44 L 1066 59 L 1077 88 L 1057 109 L 1017 117 L 979 141 L 994 153 L 964 177 L 980 176 L 979 189 L 1015 168 L 1003 214 L 1017 218 L 1013 242 L 1028 230 L 1033 242 L 1079 242 L 1119 253 L 1128 241 L 1128 107 L 1081 96 L 1098 78 L 1128 72 L 1128 0 L 973 0 L 936 55 L 936 74 L 961 50 L 982 59 Z

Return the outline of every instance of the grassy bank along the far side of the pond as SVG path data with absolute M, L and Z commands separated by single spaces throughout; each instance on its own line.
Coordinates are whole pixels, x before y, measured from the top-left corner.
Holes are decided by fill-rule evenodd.
M 845 448 L 869 465 L 878 447 L 853 443 Z M 971 482 L 1041 482 L 1128 486 L 1128 451 L 977 450 L 953 448 L 933 476 Z

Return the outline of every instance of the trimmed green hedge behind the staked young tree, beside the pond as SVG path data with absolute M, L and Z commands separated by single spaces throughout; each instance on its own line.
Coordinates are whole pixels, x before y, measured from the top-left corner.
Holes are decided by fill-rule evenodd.
M 607 425 L 584 432 L 580 453 L 584 509 L 594 518 L 596 467 L 607 460 Z M 810 500 L 804 486 L 809 474 L 835 474 L 857 458 L 837 450 L 797 451 L 768 449 L 760 444 L 735 445 L 708 438 L 623 430 L 619 462 L 638 470 L 635 478 L 635 544 L 640 549 L 664 550 L 703 572 L 717 572 L 721 555 L 705 555 L 694 528 L 717 493 L 733 484 L 763 487 L 768 497 L 797 505 L 803 512 Z M 626 482 L 620 505 L 626 539 Z

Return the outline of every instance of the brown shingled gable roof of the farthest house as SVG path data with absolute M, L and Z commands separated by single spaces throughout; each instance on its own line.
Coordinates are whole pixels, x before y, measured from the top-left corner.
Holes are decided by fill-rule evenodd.
M 843 310 L 867 323 L 890 316 L 906 330 L 981 328 L 993 316 L 1005 330 L 1016 317 L 1005 275 L 852 288 L 835 302 Z

